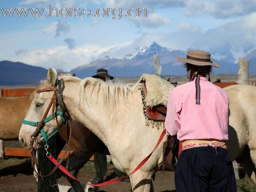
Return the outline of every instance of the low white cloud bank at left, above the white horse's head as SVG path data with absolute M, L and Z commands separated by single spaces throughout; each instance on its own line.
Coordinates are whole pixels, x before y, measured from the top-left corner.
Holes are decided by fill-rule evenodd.
M 101 47 L 97 44 L 84 44 L 73 49 L 69 49 L 67 46 L 58 46 L 50 49 L 38 49 L 24 55 L 9 55 L 9 58 L 6 59 L 44 68 L 71 70 L 95 61 L 113 47 L 118 47 L 118 45 Z

